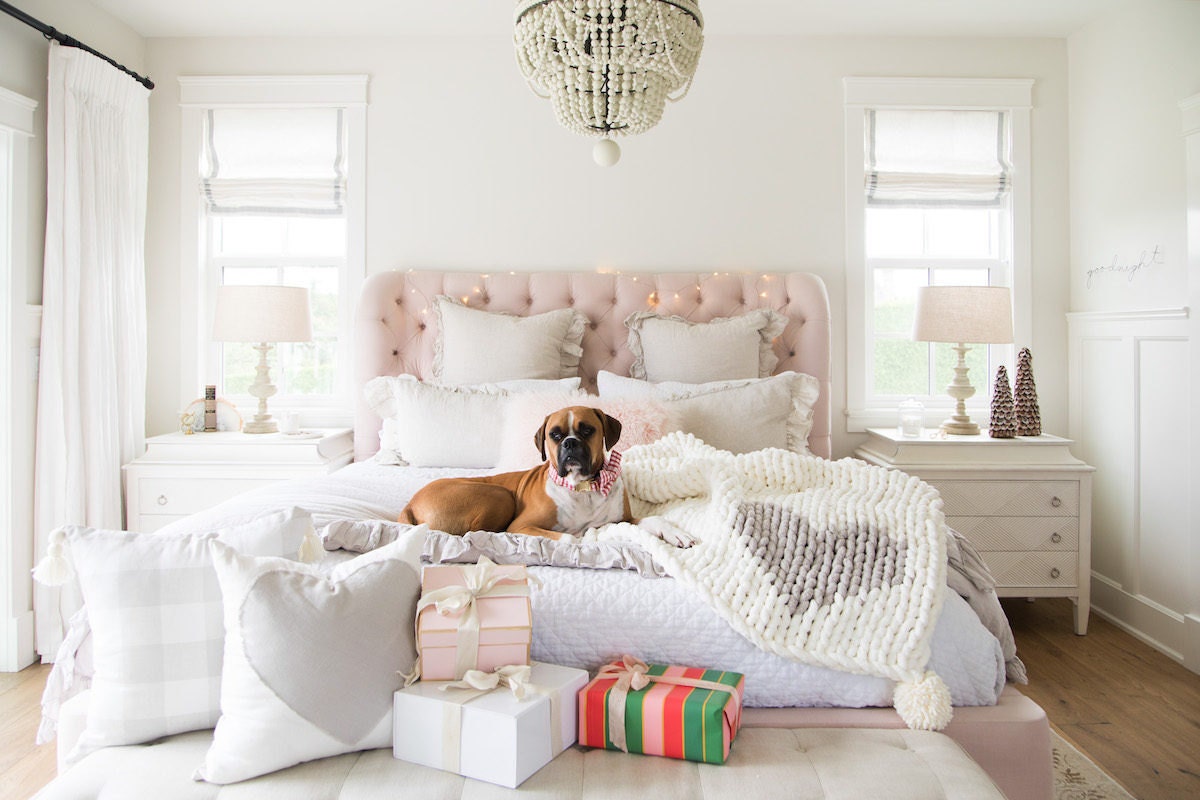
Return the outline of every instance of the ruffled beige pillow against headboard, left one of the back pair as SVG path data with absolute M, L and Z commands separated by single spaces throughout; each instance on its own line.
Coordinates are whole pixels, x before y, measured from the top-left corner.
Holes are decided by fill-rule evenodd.
M 572 378 L 580 373 L 588 318 L 574 308 L 517 317 L 433 299 L 438 338 L 433 377 L 444 384 L 522 378 Z

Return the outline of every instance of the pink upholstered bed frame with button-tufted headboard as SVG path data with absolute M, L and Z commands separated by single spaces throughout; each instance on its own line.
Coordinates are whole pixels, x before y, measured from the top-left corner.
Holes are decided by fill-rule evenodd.
M 781 273 L 600 273 L 600 272 L 382 272 L 367 278 L 355 319 L 355 459 L 379 449 L 380 421 L 362 399 L 362 384 L 377 375 L 431 377 L 437 323 L 433 297 L 464 300 L 474 308 L 520 315 L 568 306 L 588 315 L 580 372 L 595 390 L 600 369 L 628 375 L 634 361 L 624 320 L 655 308 L 694 321 L 774 308 L 788 318 L 775 342 L 776 372 L 806 372 L 821 381 L 809 447 L 830 455 L 829 299 L 820 277 Z M 480 343 L 487 347 L 488 343 Z M 744 724 L 760 727 L 900 728 L 892 709 L 748 709 Z M 995 706 L 956 709 L 946 733 L 996 781 L 1009 800 L 1052 796 L 1050 727 L 1036 703 L 1012 686 Z

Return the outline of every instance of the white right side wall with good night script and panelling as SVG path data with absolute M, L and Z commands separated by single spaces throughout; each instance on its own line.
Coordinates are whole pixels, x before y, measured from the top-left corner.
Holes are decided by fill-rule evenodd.
M 1068 40 L 1069 414 L 1097 468 L 1093 608 L 1200 672 L 1198 41 L 1200 2 L 1177 0 Z

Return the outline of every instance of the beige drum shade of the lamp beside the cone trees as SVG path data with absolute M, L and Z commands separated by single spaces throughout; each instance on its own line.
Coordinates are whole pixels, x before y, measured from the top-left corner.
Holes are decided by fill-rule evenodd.
M 1007 287 L 920 287 L 912 337 L 918 342 L 1007 344 L 1013 301 Z

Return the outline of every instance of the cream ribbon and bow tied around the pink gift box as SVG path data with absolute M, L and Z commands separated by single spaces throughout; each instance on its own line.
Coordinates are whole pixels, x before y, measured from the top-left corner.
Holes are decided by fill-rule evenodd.
M 431 606 L 443 616 L 461 614 L 458 619 L 458 637 L 455 642 L 455 678 L 462 678 L 473 669 L 479 660 L 479 608 L 481 597 L 528 597 L 529 582 L 541 585 L 538 578 L 498 575 L 496 563 L 486 555 L 479 557 L 479 564 L 462 565 L 462 585 L 443 587 L 421 595 L 416 603 L 416 618 L 413 622 L 416 633 L 416 663 L 413 672 L 404 675 L 404 686 L 410 686 L 421 675 L 421 612 Z

